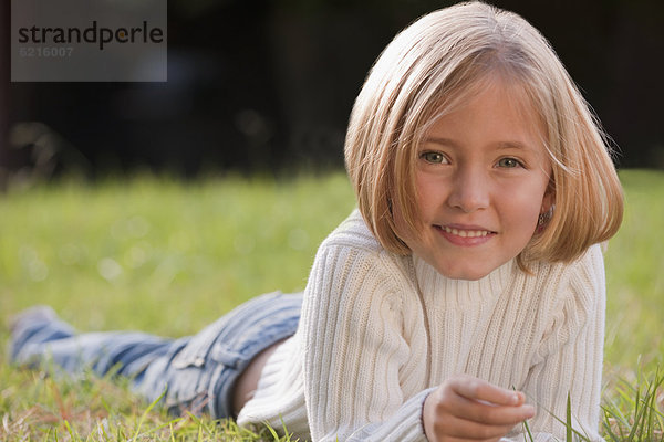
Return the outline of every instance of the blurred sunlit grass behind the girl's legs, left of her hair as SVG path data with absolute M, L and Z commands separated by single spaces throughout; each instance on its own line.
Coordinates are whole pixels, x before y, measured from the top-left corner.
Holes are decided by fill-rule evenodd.
M 251 296 L 302 290 L 353 206 L 341 173 L 11 193 L 0 198 L 0 311 L 42 303 L 85 330 L 191 334 Z

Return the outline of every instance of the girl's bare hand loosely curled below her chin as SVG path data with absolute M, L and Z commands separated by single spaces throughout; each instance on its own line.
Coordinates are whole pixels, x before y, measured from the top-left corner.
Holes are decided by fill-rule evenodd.
M 523 393 L 471 376 L 447 379 L 424 401 L 424 431 L 432 442 L 497 441 L 535 415 Z

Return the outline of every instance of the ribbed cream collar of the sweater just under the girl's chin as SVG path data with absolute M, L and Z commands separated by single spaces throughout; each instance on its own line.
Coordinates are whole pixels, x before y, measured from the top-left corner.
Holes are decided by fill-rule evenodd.
M 510 260 L 481 280 L 452 280 L 443 276 L 423 259 L 413 255 L 415 276 L 426 304 L 436 306 L 477 304 L 496 299 L 519 272 Z

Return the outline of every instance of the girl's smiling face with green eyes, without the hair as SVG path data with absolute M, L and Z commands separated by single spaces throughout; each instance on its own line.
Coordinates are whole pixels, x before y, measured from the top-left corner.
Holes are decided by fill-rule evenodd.
M 415 182 L 424 231 L 404 239 L 452 278 L 478 280 L 516 257 L 552 203 L 551 164 L 536 113 L 501 81 L 479 91 L 435 120 L 418 146 Z

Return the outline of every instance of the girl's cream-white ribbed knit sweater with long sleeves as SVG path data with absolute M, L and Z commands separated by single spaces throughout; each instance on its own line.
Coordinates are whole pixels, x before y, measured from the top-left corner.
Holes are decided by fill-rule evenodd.
M 531 270 L 511 261 L 479 281 L 449 280 L 385 251 L 354 211 L 320 246 L 299 329 L 269 359 L 238 422 L 286 424 L 301 440 L 426 441 L 426 396 L 468 373 L 523 391 L 537 407 L 537 441 L 563 439 L 554 417 L 564 421 L 568 392 L 574 428 L 600 439 L 600 248 Z

